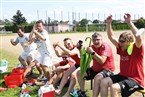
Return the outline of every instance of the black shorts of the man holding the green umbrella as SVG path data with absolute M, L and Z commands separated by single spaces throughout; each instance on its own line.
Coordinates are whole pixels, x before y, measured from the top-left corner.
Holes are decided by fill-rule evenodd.
M 109 71 L 109 70 L 102 70 L 100 72 L 95 72 L 92 68 L 88 68 L 87 71 L 87 76 L 84 77 L 85 80 L 91 80 L 94 79 L 94 77 L 98 74 L 101 73 L 103 75 L 103 77 L 109 77 L 109 76 L 113 76 L 113 72 Z

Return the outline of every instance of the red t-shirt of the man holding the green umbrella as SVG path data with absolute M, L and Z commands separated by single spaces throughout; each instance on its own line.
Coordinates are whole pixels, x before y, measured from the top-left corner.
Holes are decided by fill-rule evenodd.
M 93 59 L 93 70 L 96 72 L 102 70 L 110 70 L 114 71 L 114 57 L 112 53 L 111 47 L 107 43 L 103 43 L 101 47 L 95 48 L 93 45 L 91 46 L 93 50 L 100 56 L 107 56 L 107 59 L 104 64 L 100 64 L 95 59 Z

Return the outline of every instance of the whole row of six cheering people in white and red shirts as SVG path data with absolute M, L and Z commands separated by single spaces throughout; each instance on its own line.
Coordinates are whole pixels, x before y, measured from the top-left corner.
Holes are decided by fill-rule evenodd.
M 87 97 L 85 93 L 85 80 L 93 79 L 92 97 L 129 97 L 137 90 L 144 89 L 144 46 L 141 35 L 136 36 L 137 27 L 131 21 L 131 15 L 124 15 L 125 22 L 130 27 L 131 32 L 123 32 L 119 39 L 114 35 L 112 29 L 112 15 L 106 19 L 107 35 L 109 40 L 116 47 L 117 54 L 120 56 L 120 72 L 114 74 L 115 65 L 111 46 L 103 41 L 100 33 L 92 34 L 92 45 L 86 51 L 92 56 L 92 65 L 86 70 L 85 76 L 81 79 L 80 75 L 80 54 L 82 44 L 74 44 L 71 38 L 53 43 L 53 48 L 58 57 L 63 60 L 55 65 L 52 64 L 52 50 L 47 31 L 44 29 L 42 21 L 37 21 L 31 31 L 29 38 L 24 36 L 23 30 L 17 30 L 19 37 L 13 45 L 20 43 L 24 52 L 20 55 L 21 64 L 28 67 L 25 76 L 36 66 L 39 77 L 42 71 L 47 78 L 47 84 L 60 85 L 55 90 L 56 95 L 60 95 L 67 81 L 70 79 L 67 92 L 63 97 L 70 97 L 70 92 L 78 81 L 82 97 Z M 31 49 L 32 44 L 36 44 L 35 49 Z M 59 50 L 58 50 L 59 49 Z M 53 68 L 53 66 L 55 68 Z M 110 93 L 108 93 L 110 91 Z

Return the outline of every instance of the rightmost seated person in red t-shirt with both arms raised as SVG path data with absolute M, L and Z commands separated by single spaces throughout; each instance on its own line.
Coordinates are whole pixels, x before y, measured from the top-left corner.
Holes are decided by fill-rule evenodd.
M 144 46 L 142 37 L 136 36 L 138 29 L 131 21 L 131 15 L 124 15 L 125 22 L 131 28 L 132 33 L 124 32 L 119 39 L 114 36 L 112 30 L 112 15 L 107 17 L 107 34 L 115 45 L 117 54 L 120 55 L 120 72 L 107 77 L 101 82 L 101 97 L 108 97 L 110 87 L 111 97 L 129 97 L 136 90 L 144 87 Z

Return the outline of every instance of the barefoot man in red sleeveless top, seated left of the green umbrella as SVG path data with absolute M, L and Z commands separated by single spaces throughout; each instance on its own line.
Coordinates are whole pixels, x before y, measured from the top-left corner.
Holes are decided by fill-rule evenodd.
M 76 45 L 74 45 L 74 43 L 72 42 L 72 40 L 70 38 L 65 38 L 63 40 L 63 42 L 64 42 L 64 46 L 61 45 L 59 42 L 56 43 L 56 46 L 62 50 L 61 55 L 63 55 L 63 54 L 68 55 L 69 57 L 71 57 L 74 60 L 75 64 L 74 64 L 74 66 L 70 67 L 65 72 L 65 74 L 63 75 L 63 78 L 60 82 L 59 88 L 55 90 L 55 93 L 57 95 L 61 94 L 63 87 L 65 86 L 65 84 L 68 81 L 68 78 L 70 77 L 70 84 L 69 84 L 68 90 L 65 93 L 65 95 L 63 96 L 63 97 L 69 97 L 70 92 L 72 91 L 74 85 L 76 84 L 76 72 L 78 71 L 78 69 L 80 67 L 80 51 L 76 47 Z

